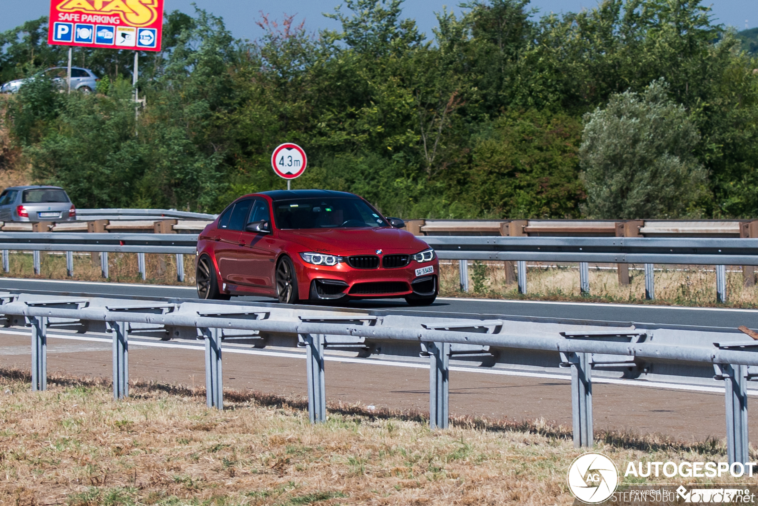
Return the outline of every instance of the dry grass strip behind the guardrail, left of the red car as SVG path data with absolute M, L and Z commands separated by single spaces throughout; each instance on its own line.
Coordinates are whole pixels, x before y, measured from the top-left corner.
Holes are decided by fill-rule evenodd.
M 11 252 L 10 272 L 0 272 L 3 277 L 71 279 L 74 281 L 105 281 L 102 278 L 99 253 L 74 253 L 74 277 L 66 273 L 66 257 L 62 253 L 42 253 L 39 275 L 34 274 L 31 253 Z M 136 253 L 108 254 L 108 281 L 121 283 L 195 285 L 195 256 L 184 256 L 184 282 L 177 281 L 177 257 L 175 255 L 145 255 L 146 280 L 137 270 Z

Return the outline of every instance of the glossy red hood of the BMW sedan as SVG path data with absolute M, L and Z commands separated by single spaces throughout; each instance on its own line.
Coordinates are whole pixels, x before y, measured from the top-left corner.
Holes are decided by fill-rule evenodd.
M 398 228 L 327 228 L 279 231 L 280 238 L 302 245 L 302 251 L 318 251 L 335 255 L 387 253 L 418 253 L 428 244 L 415 235 Z

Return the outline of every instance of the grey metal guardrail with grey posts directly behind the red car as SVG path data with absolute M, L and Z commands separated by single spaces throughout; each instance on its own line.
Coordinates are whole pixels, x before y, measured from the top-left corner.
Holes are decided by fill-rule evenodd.
M 108 253 L 138 253 L 140 273 L 145 276 L 145 253 L 177 255 L 177 272 L 183 281 L 183 255 L 194 254 L 196 234 L 74 234 L 63 232 L 3 232 L 0 250 L 8 272 L 8 251 L 35 252 L 39 273 L 40 251 L 101 252 L 102 273 L 108 278 Z M 640 263 L 645 265 L 646 297 L 655 298 L 653 264 L 716 266 L 716 297 L 726 300 L 725 266 L 758 266 L 758 239 L 731 237 L 453 237 L 428 236 L 426 242 L 440 259 L 459 260 L 460 283 L 468 291 L 468 260 L 515 261 L 518 289 L 527 293 L 526 260 L 579 262 L 580 286 L 589 293 L 589 262 Z M 73 257 L 67 255 L 69 275 Z

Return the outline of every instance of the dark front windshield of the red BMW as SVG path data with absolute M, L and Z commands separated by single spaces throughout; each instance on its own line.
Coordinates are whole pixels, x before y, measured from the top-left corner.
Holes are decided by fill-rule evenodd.
M 360 199 L 296 199 L 274 202 L 277 228 L 376 228 L 390 226 Z

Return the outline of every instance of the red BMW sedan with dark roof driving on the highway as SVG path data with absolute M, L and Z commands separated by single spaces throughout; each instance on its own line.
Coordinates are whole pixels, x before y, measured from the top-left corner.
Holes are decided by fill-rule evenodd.
M 352 193 L 240 197 L 199 235 L 198 296 L 258 294 L 281 303 L 403 297 L 413 306 L 431 304 L 437 255 L 403 227 Z

